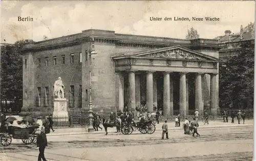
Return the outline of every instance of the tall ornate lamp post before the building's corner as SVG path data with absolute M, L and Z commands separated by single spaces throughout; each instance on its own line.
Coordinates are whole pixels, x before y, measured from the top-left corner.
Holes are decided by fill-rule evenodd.
M 93 60 L 95 59 L 97 53 L 94 51 L 94 38 L 92 41 L 92 50 L 89 53 L 89 61 L 90 61 L 90 67 L 89 67 L 89 79 L 90 79 L 90 84 L 89 84 L 89 93 L 90 93 L 90 100 L 89 100 L 89 128 L 88 132 L 94 132 L 93 129 L 93 110 L 92 110 L 92 58 Z

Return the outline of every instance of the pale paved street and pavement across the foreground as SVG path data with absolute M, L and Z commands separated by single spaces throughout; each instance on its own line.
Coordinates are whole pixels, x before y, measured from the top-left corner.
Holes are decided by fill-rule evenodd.
M 206 127 L 201 123 L 200 137 L 184 135 L 179 127 L 172 130 L 169 125 L 169 140 L 161 140 L 160 130 L 152 135 L 134 132 L 132 135 L 109 133 L 108 136 L 99 132 L 78 134 L 77 131 L 76 135 L 54 136 L 55 132 L 51 132 L 45 156 L 48 161 L 252 160 L 253 120 L 248 120 L 245 125 L 225 125 L 220 121 L 210 124 L 220 125 Z M 61 134 L 62 130 L 56 129 L 55 134 Z M 1 151 L 0 160 L 3 161 L 32 161 L 38 156 L 35 145 L 24 145 L 17 140 L 8 147 L 1 147 Z

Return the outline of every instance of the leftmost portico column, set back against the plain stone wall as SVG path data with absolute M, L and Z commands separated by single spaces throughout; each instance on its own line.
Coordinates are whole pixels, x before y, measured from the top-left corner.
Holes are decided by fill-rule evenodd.
M 117 74 L 118 83 L 118 108 L 123 111 L 124 108 L 124 77 L 121 72 Z

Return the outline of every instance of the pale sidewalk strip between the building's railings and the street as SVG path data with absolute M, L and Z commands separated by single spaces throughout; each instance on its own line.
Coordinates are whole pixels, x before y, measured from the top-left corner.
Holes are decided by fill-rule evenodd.
M 202 121 L 199 121 L 199 128 L 225 128 L 225 127 L 244 127 L 244 126 L 253 126 L 253 120 L 245 120 L 246 124 L 238 124 L 237 120 L 235 120 L 235 123 L 230 122 L 222 122 L 222 121 L 209 121 L 209 124 L 203 124 Z M 159 124 L 156 124 L 156 131 L 161 131 L 162 130 L 162 122 Z M 181 127 L 175 127 L 175 122 L 168 122 L 168 130 L 183 130 L 182 128 L 182 122 L 181 122 Z M 102 125 L 100 125 L 102 127 Z M 253 128 L 253 127 L 252 127 Z M 108 133 L 114 133 L 116 132 L 116 127 L 108 127 Z M 136 132 L 136 131 L 135 131 Z M 78 128 L 58 128 L 55 129 L 54 132 L 50 132 L 47 134 L 47 136 L 64 136 L 64 135 L 83 135 L 83 134 L 100 134 L 100 133 L 105 133 L 104 127 L 102 130 L 99 129 L 99 131 L 94 131 L 94 132 L 88 132 L 88 127 L 78 127 Z

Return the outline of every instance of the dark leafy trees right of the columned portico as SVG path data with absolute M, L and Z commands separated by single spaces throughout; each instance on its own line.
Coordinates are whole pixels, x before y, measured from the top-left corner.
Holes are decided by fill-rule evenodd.
M 239 55 L 220 64 L 220 106 L 227 108 L 253 108 L 254 40 L 244 44 Z

